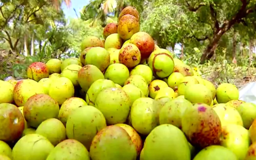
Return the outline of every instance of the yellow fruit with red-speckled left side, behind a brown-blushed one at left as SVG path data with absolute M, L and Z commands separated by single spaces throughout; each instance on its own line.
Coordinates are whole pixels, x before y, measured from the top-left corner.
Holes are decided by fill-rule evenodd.
M 14 102 L 18 107 L 24 106 L 29 97 L 40 93 L 45 93 L 42 85 L 32 79 L 23 79 L 14 87 Z

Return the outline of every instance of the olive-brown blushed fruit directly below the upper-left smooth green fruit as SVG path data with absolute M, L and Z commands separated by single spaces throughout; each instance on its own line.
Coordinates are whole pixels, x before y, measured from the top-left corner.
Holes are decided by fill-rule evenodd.
M 104 75 L 95 65 L 87 64 L 78 72 L 79 85 L 85 92 L 97 79 L 104 79 Z

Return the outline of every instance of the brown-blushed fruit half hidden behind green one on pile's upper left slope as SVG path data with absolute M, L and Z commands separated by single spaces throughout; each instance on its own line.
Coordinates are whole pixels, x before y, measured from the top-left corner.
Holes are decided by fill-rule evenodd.
M 103 43 L 98 37 L 87 36 L 81 43 L 81 51 L 88 47 L 103 47 Z

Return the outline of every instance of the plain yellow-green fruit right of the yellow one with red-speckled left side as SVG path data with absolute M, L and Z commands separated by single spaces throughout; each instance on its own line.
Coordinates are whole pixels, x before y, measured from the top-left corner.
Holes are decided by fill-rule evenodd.
M 52 81 L 49 87 L 49 96 L 51 96 L 59 105 L 68 98 L 74 96 L 74 85 L 66 77 L 56 78 Z

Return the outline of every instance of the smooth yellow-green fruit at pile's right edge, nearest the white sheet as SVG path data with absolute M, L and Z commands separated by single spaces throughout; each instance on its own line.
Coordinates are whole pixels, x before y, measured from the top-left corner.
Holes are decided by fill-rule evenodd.
M 227 103 L 238 98 L 239 91 L 234 84 L 222 83 L 216 89 L 216 100 L 218 103 Z

